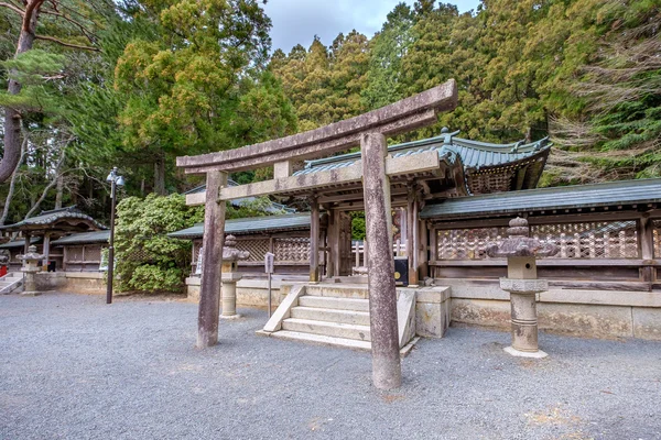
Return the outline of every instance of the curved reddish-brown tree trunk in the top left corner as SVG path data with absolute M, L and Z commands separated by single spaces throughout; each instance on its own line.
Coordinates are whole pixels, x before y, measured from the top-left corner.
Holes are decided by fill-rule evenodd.
M 39 11 L 45 0 L 30 0 L 25 7 L 23 14 L 23 23 L 21 25 L 21 34 L 17 44 L 17 53 L 19 55 L 30 51 L 34 43 L 34 31 L 36 29 L 36 20 Z M 11 79 L 14 72 L 10 73 L 10 80 L 7 91 L 9 95 L 19 95 L 21 85 L 14 79 Z M 4 108 L 4 152 L 2 161 L 0 161 L 0 183 L 6 182 L 17 168 L 17 164 L 21 157 L 21 113 L 10 107 Z

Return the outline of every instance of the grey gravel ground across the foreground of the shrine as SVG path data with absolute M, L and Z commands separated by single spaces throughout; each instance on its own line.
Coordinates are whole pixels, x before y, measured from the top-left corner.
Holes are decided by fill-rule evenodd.
M 397 392 L 369 353 L 257 337 L 266 311 L 193 348 L 197 307 L 0 296 L 2 439 L 661 439 L 661 343 L 449 329 L 403 361 Z

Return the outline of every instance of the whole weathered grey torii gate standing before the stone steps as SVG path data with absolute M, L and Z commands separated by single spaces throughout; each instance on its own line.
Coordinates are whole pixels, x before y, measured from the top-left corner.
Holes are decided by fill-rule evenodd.
M 188 195 L 187 205 L 205 205 L 203 270 L 197 346 L 218 342 L 220 267 L 225 241 L 226 201 L 242 197 L 312 190 L 327 185 L 360 184 L 362 180 L 368 246 L 368 289 L 372 346 L 372 380 L 379 388 L 401 384 L 397 324 L 397 292 L 391 238 L 389 176 L 433 170 L 440 167 L 436 152 L 415 160 L 388 157 L 386 136 L 409 132 L 437 121 L 440 111 L 457 103 L 454 79 L 378 110 L 316 130 L 218 153 L 177 157 L 186 174 L 206 174 L 206 193 Z M 325 173 L 292 176 L 292 161 L 328 156 L 360 145 L 361 163 Z M 273 166 L 274 178 L 241 186 L 227 186 L 229 173 Z M 311 230 L 319 230 L 319 206 L 312 198 Z M 317 267 L 318 233 L 311 235 L 311 267 Z M 318 280 L 318 270 L 311 271 Z

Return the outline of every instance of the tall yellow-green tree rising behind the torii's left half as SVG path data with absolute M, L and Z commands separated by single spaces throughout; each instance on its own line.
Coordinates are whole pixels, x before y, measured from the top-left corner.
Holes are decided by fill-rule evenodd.
M 142 4 L 138 16 L 152 18 L 155 36 L 128 42 L 115 67 L 113 87 L 124 97 L 116 113 L 120 150 L 165 173 L 177 155 L 295 131 L 280 81 L 264 72 L 271 21 L 257 0 Z

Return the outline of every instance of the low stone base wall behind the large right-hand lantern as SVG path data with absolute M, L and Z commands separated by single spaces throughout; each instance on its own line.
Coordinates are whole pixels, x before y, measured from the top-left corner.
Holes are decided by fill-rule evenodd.
M 436 279 L 452 287 L 452 321 L 509 330 L 509 294 L 497 285 Z M 661 293 L 551 289 L 538 295 L 539 328 L 583 338 L 661 340 Z

